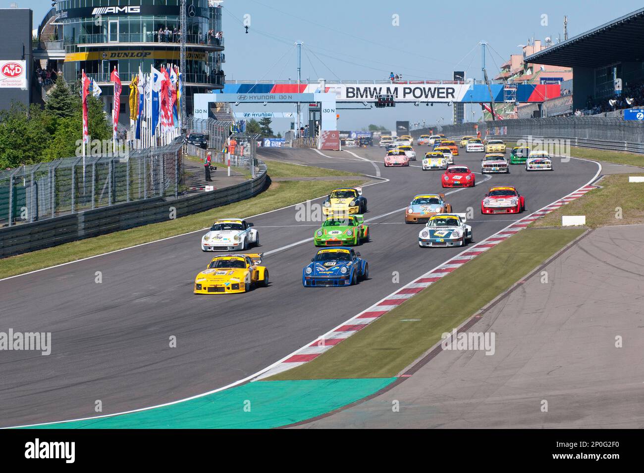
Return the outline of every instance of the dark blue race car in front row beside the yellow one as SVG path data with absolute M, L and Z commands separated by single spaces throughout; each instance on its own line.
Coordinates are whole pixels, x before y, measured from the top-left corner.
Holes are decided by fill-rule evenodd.
M 302 270 L 302 285 L 354 286 L 369 279 L 369 264 L 353 248 L 338 247 L 319 250 L 311 263 Z

